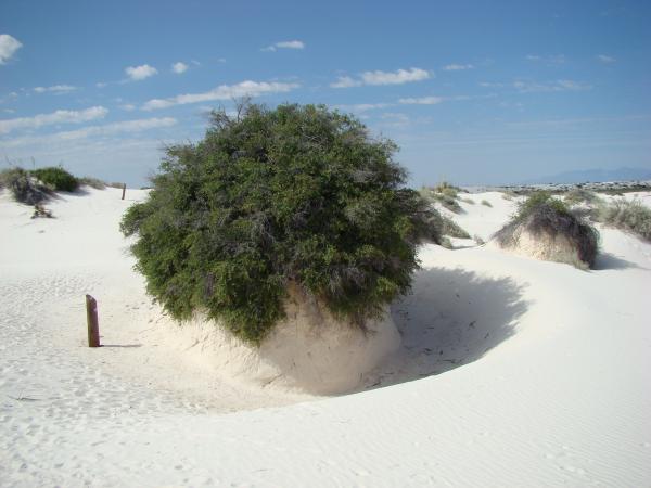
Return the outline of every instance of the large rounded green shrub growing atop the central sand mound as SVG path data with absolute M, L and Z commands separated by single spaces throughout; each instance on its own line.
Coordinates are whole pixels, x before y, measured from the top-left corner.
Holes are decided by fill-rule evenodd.
M 167 150 L 122 230 L 177 319 L 203 311 L 259 343 L 295 284 L 362 325 L 409 288 L 417 243 L 439 239 L 395 151 L 324 106 L 214 112 L 201 142 Z

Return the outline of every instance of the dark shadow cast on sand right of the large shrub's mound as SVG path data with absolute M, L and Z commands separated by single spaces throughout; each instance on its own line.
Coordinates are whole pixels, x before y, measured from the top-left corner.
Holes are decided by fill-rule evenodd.
M 511 278 L 463 269 L 423 269 L 412 291 L 392 305 L 400 349 L 365 377 L 365 389 L 439 374 L 476 361 L 514 334 L 526 311 L 522 285 Z

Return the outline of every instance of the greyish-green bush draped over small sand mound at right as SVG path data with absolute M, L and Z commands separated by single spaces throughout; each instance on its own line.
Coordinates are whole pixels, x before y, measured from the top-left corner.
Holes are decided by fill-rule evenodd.
M 535 192 L 519 204 L 518 213 L 494 235 L 502 247 L 518 244 L 518 231 L 523 227 L 534 235 L 564 236 L 576 248 L 578 259 L 589 267 L 595 264 L 599 232 L 578 218 L 567 206 L 548 192 Z

